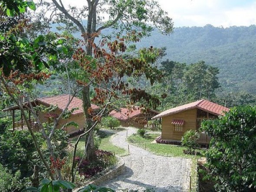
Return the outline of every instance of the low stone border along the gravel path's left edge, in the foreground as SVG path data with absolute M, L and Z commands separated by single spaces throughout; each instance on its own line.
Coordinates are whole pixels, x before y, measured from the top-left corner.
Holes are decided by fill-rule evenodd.
M 123 159 L 118 157 L 118 164 L 112 168 L 111 170 L 109 170 L 106 174 L 104 174 L 103 176 L 100 176 L 99 178 L 95 179 L 92 182 L 89 182 L 86 185 L 92 184 L 92 185 L 101 185 L 102 183 L 110 180 L 110 179 L 114 179 L 115 177 L 117 177 L 118 175 L 121 175 L 122 173 L 125 172 L 125 162 Z M 83 187 L 80 187 L 79 189 L 82 189 Z M 73 192 L 77 192 L 79 189 L 74 189 Z

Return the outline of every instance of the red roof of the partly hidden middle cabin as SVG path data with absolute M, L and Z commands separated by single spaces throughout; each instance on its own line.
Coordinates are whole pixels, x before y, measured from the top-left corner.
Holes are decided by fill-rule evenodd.
M 139 107 L 135 107 L 132 110 L 129 110 L 128 108 L 120 108 L 120 112 L 113 110 L 109 113 L 111 117 L 115 117 L 119 120 L 124 121 L 128 120 L 131 117 L 135 117 L 139 114 L 142 114 L 141 109 Z

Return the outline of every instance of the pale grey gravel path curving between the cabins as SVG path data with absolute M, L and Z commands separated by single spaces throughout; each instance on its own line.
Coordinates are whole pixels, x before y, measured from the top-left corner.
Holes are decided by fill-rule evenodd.
M 128 128 L 128 136 L 136 133 L 135 128 Z M 128 149 L 127 131 L 118 132 L 112 137 L 116 146 Z M 155 192 L 188 191 L 190 159 L 154 155 L 137 146 L 129 145 L 130 155 L 122 157 L 125 161 L 125 173 L 103 183 L 118 192 L 133 189 L 143 192 L 153 189 Z

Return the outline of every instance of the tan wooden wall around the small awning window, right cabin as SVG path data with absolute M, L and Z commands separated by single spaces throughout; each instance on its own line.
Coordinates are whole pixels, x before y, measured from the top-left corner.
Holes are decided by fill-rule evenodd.
M 197 109 L 190 109 L 181 111 L 177 114 L 162 117 L 162 139 L 164 140 L 181 140 L 181 137 L 187 130 L 195 130 L 197 119 Z M 174 131 L 174 125 L 171 124 L 173 120 L 184 120 L 183 131 Z

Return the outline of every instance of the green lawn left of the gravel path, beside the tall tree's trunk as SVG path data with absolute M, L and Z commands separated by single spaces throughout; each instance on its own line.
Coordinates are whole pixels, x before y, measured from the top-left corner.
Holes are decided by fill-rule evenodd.
M 118 156 L 125 156 L 128 154 L 128 152 L 121 148 L 121 147 L 118 147 L 118 146 L 115 146 L 113 145 L 111 142 L 110 142 L 110 137 L 112 135 L 114 135 L 115 133 L 109 133 L 109 132 L 106 132 L 104 130 L 99 130 L 98 131 L 98 136 L 101 140 L 100 142 L 100 145 L 99 145 L 99 150 L 105 150 L 105 151 L 110 151 L 112 153 L 115 153 L 115 155 L 118 155 Z M 71 143 L 72 144 L 75 144 L 77 138 L 73 138 Z M 84 150 L 85 149 L 85 139 L 82 138 L 78 144 L 78 150 Z

